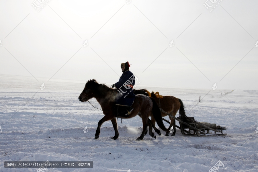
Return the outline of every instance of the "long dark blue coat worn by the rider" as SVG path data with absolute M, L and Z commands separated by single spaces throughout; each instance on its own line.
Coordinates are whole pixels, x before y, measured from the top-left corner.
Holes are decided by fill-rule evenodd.
M 116 105 L 132 106 L 135 95 L 132 86 L 135 84 L 135 77 L 131 71 L 122 74 L 119 81 L 115 83 L 120 97 L 116 100 Z

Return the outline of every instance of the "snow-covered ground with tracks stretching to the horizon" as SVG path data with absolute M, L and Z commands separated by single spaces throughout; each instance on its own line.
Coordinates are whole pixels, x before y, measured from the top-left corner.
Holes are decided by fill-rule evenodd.
M 142 132 L 137 116 L 118 119 L 119 137 L 112 140 L 110 121 L 94 139 L 100 110 L 80 102 L 84 82 L 36 81 L 33 77 L 0 75 L 0 171 L 37 171 L 36 168 L 4 168 L 4 161 L 93 161 L 93 168 L 55 168 L 53 171 L 207 172 L 219 160 L 223 171 L 258 171 L 258 91 L 146 88 L 173 95 L 185 104 L 187 116 L 225 126 L 227 136 L 175 136 L 157 138 Z M 43 83 L 45 89 L 41 90 Z M 101 81 L 100 81 L 101 82 Z M 199 96 L 201 95 L 201 102 Z M 100 108 L 95 99 L 90 102 Z M 178 114 L 177 114 L 178 116 Z M 166 117 L 166 119 L 169 119 Z M 164 122 L 166 127 L 167 123 Z M 177 123 L 178 125 L 178 123 Z M 83 128 L 88 127 L 84 133 Z M 157 125 L 156 125 L 157 126 Z M 154 130 L 153 130 L 154 131 Z M 50 170 L 49 170 L 50 171 Z

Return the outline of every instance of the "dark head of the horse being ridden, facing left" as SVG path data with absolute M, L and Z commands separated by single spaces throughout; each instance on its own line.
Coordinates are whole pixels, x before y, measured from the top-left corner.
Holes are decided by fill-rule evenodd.
M 78 97 L 80 101 L 85 102 L 93 97 L 95 89 L 98 87 L 99 83 L 95 79 L 87 81 L 83 91 L 81 92 L 80 96 Z

